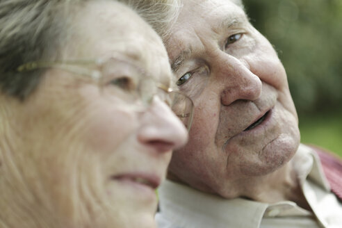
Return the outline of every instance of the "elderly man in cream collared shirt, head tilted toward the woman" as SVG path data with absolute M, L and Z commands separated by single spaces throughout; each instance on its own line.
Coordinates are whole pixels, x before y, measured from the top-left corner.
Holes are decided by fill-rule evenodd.
M 183 0 L 170 25 L 154 26 L 195 113 L 159 190 L 159 226 L 342 227 L 320 158 L 300 145 L 284 67 L 242 3 Z

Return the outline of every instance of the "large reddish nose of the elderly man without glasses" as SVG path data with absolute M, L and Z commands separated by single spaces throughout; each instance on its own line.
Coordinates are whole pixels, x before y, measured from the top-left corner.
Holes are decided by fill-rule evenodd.
M 239 99 L 254 101 L 260 97 L 261 80 L 250 71 L 247 63 L 225 54 L 218 64 L 219 78 L 224 86 L 222 104 L 229 105 Z

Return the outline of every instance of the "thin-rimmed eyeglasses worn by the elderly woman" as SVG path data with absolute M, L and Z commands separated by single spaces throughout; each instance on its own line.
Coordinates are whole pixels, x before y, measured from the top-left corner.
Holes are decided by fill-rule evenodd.
M 98 83 L 104 95 L 113 95 L 137 111 L 148 108 L 154 97 L 158 97 L 171 108 L 190 131 L 193 121 L 193 101 L 181 92 L 157 83 L 156 79 L 150 76 L 151 74 L 131 60 L 110 57 L 96 60 L 35 61 L 20 65 L 17 67 L 17 72 L 42 68 L 58 68 L 80 76 L 88 76 L 87 79 Z

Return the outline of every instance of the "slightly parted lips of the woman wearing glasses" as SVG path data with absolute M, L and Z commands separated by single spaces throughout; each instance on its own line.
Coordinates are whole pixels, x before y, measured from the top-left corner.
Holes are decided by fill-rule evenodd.
M 147 186 L 149 188 L 156 189 L 161 183 L 159 177 L 154 174 L 145 174 L 145 173 L 127 173 L 127 174 L 118 174 L 111 177 L 111 179 L 116 181 L 127 181 L 133 184 L 138 184 L 142 186 Z

